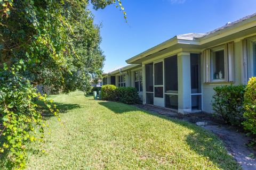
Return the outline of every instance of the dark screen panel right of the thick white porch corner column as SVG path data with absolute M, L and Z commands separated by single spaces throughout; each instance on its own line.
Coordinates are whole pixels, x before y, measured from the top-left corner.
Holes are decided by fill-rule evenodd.
M 200 54 L 190 54 L 190 78 L 191 78 L 191 109 L 202 109 L 201 68 Z

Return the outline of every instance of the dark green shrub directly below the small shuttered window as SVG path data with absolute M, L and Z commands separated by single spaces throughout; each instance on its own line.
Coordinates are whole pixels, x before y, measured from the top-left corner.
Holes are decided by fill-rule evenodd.
M 213 88 L 212 107 L 215 114 L 231 125 L 241 125 L 243 118 L 243 102 L 245 86 L 220 86 Z

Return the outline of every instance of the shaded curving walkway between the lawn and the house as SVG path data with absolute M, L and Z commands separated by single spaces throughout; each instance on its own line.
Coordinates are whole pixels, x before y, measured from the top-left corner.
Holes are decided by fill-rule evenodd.
M 212 131 L 216 134 L 226 145 L 226 148 L 234 159 L 241 165 L 245 170 L 255 170 L 256 169 L 256 159 L 249 157 L 249 155 L 254 154 L 256 156 L 255 150 L 247 147 L 245 144 L 249 142 L 250 137 L 242 132 L 239 132 L 236 128 L 231 126 L 223 125 L 221 120 L 217 120 L 210 114 L 196 113 L 181 115 L 170 111 L 169 109 L 158 108 L 149 105 L 135 105 L 143 110 L 165 115 L 172 118 L 178 118 L 180 120 L 185 120 L 190 123 L 195 123 L 200 125 L 202 128 Z

